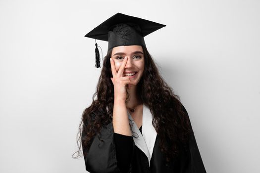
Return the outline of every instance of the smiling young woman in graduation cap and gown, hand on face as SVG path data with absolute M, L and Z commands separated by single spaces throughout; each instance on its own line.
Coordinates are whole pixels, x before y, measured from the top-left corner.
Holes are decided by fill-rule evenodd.
M 95 99 L 80 125 L 88 172 L 206 173 L 187 111 L 144 42 L 163 26 L 117 13 L 86 35 L 108 41 Z

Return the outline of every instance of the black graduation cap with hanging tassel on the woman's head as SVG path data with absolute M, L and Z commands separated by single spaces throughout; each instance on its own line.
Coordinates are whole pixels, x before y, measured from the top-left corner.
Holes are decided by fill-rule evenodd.
M 85 37 L 108 42 L 108 49 L 121 45 L 145 46 L 144 37 L 164 27 L 156 22 L 116 13 L 94 28 Z M 100 67 L 100 55 L 96 43 L 96 67 Z

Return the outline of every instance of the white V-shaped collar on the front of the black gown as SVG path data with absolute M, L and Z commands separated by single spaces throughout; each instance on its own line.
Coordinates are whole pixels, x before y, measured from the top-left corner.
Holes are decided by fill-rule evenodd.
M 142 123 L 142 133 L 138 129 L 137 125 L 134 123 L 134 120 L 131 114 L 127 111 L 130 125 L 132 126 L 132 135 L 135 145 L 142 150 L 148 158 L 149 166 L 150 161 L 153 155 L 154 146 L 156 142 L 156 130 L 152 124 L 153 115 L 150 109 L 143 104 L 143 123 Z

